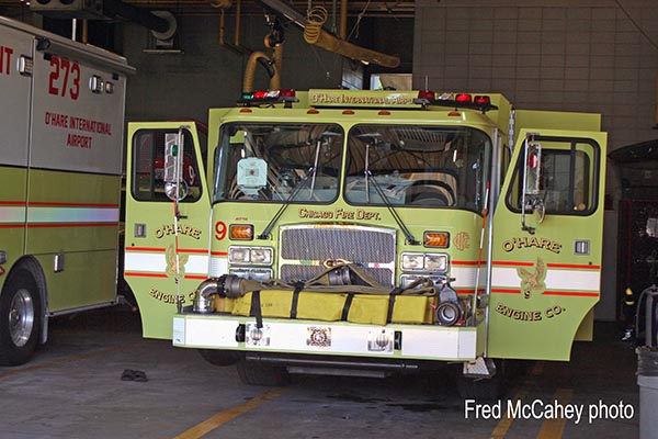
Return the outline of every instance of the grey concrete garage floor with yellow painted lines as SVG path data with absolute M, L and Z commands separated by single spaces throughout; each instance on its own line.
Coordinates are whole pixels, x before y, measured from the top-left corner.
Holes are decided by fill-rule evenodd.
M 488 403 L 476 418 L 441 375 L 295 376 L 286 387 L 246 386 L 232 367 L 143 339 L 138 315 L 114 307 L 53 322 L 33 361 L 0 368 L 0 438 L 637 438 L 633 347 L 617 341 L 614 325 L 599 324 L 595 337 L 578 344 L 569 363 L 529 363 L 501 401 L 502 416 Z M 125 369 L 148 381 L 122 381 Z M 504 417 L 517 399 L 526 416 Z M 580 421 L 552 419 L 545 409 L 554 401 L 580 407 Z M 600 407 L 608 418 L 590 424 L 590 409 Z M 484 410 L 494 414 L 486 419 Z

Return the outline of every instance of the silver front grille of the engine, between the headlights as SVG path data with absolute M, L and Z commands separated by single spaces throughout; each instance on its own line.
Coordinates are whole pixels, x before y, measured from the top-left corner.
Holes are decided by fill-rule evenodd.
M 325 269 L 327 259 L 344 259 L 368 272 L 377 282 L 394 281 L 395 230 L 362 226 L 285 226 L 281 228 L 281 278 L 308 280 Z M 318 264 L 319 263 L 319 264 Z

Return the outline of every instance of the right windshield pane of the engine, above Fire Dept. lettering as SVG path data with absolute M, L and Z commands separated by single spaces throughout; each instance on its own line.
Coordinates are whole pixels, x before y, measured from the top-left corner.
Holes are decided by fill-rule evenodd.
M 351 204 L 484 209 L 491 142 L 478 130 L 355 125 L 347 150 Z

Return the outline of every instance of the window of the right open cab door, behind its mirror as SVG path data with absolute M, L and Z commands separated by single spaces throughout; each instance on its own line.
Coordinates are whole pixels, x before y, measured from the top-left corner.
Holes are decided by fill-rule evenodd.
M 597 209 L 599 145 L 591 139 L 537 137 L 542 146 L 540 198 L 546 214 L 587 215 Z M 522 151 L 521 151 L 522 153 Z M 508 204 L 521 212 L 523 154 L 514 170 Z

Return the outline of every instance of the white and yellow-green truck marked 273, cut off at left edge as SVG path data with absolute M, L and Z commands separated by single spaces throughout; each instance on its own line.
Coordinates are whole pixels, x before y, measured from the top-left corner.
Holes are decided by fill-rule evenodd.
M 0 364 L 116 304 L 125 58 L 0 16 Z

